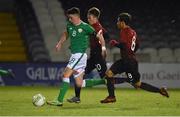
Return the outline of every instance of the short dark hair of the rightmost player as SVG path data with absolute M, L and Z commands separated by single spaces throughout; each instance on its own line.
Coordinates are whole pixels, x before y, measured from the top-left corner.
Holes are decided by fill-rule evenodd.
M 118 15 L 118 21 L 124 21 L 127 25 L 131 22 L 132 16 L 129 13 L 120 13 Z

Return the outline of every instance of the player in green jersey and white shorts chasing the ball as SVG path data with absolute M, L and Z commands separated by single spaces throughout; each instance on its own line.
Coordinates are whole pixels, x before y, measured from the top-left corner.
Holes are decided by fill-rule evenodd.
M 102 35 L 102 30 L 98 33 L 87 23 L 80 18 L 80 10 L 72 7 L 67 10 L 68 23 L 66 31 L 62 34 L 60 41 L 56 45 L 56 50 L 59 51 L 68 38 L 70 39 L 71 57 L 66 66 L 62 86 L 58 98 L 53 101 L 47 101 L 47 104 L 54 106 L 62 106 L 64 96 L 69 88 L 70 76 L 73 75 L 75 83 L 78 87 L 91 87 L 99 84 L 105 84 L 104 79 L 83 80 L 84 71 L 86 68 L 87 54 L 86 49 L 89 46 L 90 36 L 97 37 L 102 45 L 102 54 L 106 54 L 105 41 Z

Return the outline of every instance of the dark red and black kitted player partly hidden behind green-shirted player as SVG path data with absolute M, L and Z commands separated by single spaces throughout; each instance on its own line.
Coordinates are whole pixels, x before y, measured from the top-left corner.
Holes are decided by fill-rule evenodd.
M 96 32 L 102 30 L 103 36 L 105 39 L 109 38 L 107 31 L 102 27 L 99 22 L 100 10 L 96 7 L 92 7 L 88 10 L 87 19 L 89 24 L 95 29 Z M 90 39 L 90 57 L 87 60 L 87 67 L 85 69 L 85 74 L 89 74 L 92 70 L 97 69 L 101 78 L 105 76 L 107 70 L 106 67 L 106 48 L 101 45 L 101 43 L 92 37 Z M 75 96 L 67 99 L 68 102 L 80 102 L 80 91 L 81 88 L 75 85 Z

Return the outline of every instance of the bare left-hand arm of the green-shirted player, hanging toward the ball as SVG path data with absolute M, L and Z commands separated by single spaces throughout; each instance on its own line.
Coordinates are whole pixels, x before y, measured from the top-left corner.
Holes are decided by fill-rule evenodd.
M 68 34 L 66 31 L 64 31 L 60 37 L 59 42 L 56 44 L 56 51 L 60 51 L 63 43 L 67 40 L 67 38 L 68 38 Z

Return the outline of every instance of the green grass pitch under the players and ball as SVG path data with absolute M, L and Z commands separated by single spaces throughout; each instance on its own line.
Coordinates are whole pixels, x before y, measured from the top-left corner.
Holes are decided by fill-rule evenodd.
M 83 89 L 81 103 L 66 102 L 74 95 L 69 89 L 63 107 L 49 106 L 35 107 L 32 96 L 41 93 L 47 100 L 52 100 L 59 92 L 58 87 L 0 87 L 0 116 L 125 116 L 150 115 L 171 116 L 180 115 L 180 90 L 169 90 L 170 98 L 160 94 L 148 93 L 135 89 L 116 89 L 117 102 L 101 104 L 99 101 L 107 96 L 105 88 Z

